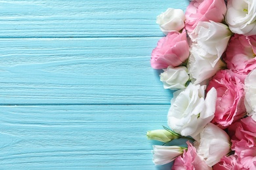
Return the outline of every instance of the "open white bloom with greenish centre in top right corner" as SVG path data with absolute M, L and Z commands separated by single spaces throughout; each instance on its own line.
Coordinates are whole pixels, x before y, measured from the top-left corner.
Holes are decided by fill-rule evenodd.
M 229 0 L 226 11 L 226 23 L 233 33 L 243 35 L 256 34 L 255 0 Z

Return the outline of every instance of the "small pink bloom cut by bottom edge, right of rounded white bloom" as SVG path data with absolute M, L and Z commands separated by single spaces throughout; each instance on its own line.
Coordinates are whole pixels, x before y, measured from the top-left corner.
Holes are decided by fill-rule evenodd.
M 243 167 L 238 159 L 238 156 L 230 155 L 228 157 L 224 156 L 221 158 L 219 163 L 213 166 L 213 170 L 249 170 L 248 168 Z

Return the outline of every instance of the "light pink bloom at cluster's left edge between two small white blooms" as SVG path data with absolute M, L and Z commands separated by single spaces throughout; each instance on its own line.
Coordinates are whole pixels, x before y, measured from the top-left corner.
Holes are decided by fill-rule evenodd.
M 158 41 L 158 46 L 152 51 L 151 66 L 154 69 L 166 69 L 169 65 L 181 65 L 189 56 L 189 46 L 186 31 L 173 31 Z

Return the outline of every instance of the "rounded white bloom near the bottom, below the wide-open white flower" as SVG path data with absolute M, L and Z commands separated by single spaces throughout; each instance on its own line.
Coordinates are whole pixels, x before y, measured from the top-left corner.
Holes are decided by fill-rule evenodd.
M 230 138 L 223 129 L 209 123 L 200 132 L 200 141 L 196 141 L 194 146 L 198 155 L 211 167 L 230 152 Z

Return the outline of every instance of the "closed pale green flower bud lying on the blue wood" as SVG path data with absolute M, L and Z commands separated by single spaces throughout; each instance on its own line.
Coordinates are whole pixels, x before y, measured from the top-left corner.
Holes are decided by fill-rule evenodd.
M 167 143 L 169 141 L 172 141 L 173 139 L 180 138 L 179 135 L 175 135 L 175 133 L 171 133 L 170 131 L 167 131 L 165 129 L 157 129 L 157 130 L 153 130 L 153 131 L 148 131 L 146 133 L 146 136 L 150 140 L 161 141 L 163 143 Z

